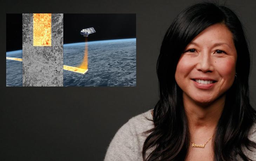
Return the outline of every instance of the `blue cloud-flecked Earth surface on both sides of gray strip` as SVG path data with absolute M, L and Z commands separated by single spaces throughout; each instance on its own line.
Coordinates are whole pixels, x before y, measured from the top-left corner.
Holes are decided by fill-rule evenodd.
M 136 38 L 88 42 L 88 71 L 63 70 L 63 86 L 136 86 Z M 79 66 L 85 42 L 63 45 L 63 64 Z M 6 52 L 22 58 L 22 50 Z M 6 60 L 6 86 L 22 86 L 22 62 Z

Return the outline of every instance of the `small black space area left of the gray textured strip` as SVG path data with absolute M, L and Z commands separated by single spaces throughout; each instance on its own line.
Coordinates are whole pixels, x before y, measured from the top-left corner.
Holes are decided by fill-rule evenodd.
M 22 49 L 22 14 L 6 14 L 6 51 Z

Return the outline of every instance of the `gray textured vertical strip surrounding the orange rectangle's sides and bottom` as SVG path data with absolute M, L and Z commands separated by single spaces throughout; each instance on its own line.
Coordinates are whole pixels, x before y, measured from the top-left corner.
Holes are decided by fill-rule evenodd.
M 33 46 L 33 14 L 22 14 L 23 86 L 63 86 L 63 14 L 52 14 L 52 46 Z

